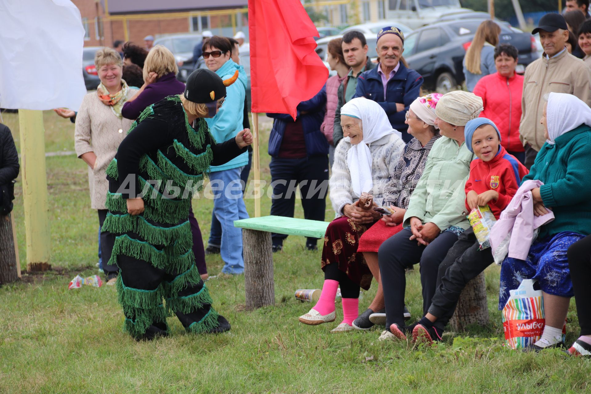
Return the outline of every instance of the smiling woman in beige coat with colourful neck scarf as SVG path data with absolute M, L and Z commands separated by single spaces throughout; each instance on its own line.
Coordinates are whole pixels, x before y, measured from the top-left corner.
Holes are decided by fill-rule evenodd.
M 105 170 L 115 157 L 117 148 L 127 135 L 133 121 L 121 116 L 123 104 L 135 94 L 121 79 L 121 56 L 111 49 L 103 48 L 96 52 L 95 66 L 100 84 L 96 92 L 88 93 L 82 100 L 76 115 L 74 146 L 76 154 L 88 165 L 90 206 L 98 210 L 99 225 L 105 221 L 106 193 L 109 183 Z M 115 237 L 111 233 L 100 233 L 100 249 L 103 271 L 107 284 L 115 284 L 119 268 L 108 265 Z

